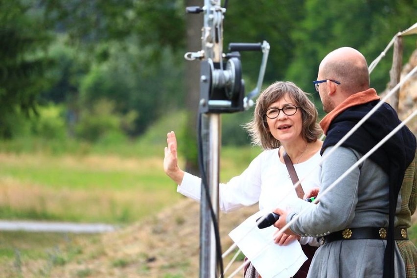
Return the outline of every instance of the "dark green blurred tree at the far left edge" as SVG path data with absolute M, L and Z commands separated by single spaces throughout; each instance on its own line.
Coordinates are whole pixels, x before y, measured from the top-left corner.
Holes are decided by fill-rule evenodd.
M 36 112 L 36 96 L 47 85 L 50 36 L 30 1 L 0 1 L 0 11 L 0 137 L 11 138 L 13 119 Z

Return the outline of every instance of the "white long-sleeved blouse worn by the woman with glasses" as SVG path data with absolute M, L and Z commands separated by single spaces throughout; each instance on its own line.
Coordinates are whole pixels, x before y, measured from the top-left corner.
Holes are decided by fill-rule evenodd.
M 294 164 L 304 192 L 320 186 L 320 151 L 309 160 Z M 200 201 L 201 179 L 185 173 L 177 192 Z M 239 176 L 219 185 L 219 206 L 229 212 L 259 202 L 259 209 L 277 208 L 279 200 L 297 197 L 287 167 L 279 160 L 278 149 L 261 152 Z

